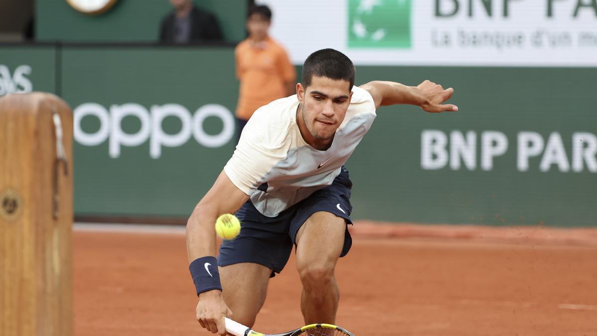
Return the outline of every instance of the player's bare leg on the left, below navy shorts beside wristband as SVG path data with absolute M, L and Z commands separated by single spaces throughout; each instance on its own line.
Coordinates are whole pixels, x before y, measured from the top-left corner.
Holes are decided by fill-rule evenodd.
M 265 302 L 272 270 L 251 262 L 227 265 L 219 270 L 222 298 L 233 314 L 230 318 L 252 327 Z

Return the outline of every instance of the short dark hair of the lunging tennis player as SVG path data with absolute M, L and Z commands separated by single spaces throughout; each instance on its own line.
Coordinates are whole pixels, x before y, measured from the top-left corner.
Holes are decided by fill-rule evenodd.
M 332 80 L 344 80 L 350 83 L 349 90 L 355 85 L 355 66 L 343 53 L 334 49 L 315 51 L 303 64 L 302 84 L 307 87 L 313 76 L 327 77 Z

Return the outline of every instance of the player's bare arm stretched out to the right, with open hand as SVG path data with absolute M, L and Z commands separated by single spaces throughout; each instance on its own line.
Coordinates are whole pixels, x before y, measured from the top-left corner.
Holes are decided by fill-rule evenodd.
M 458 111 L 458 106 L 442 104 L 450 99 L 454 93 L 453 88 L 444 90 L 442 85 L 431 81 L 424 81 L 417 86 L 388 81 L 373 81 L 361 85 L 361 88 L 369 91 L 373 97 L 375 107 L 409 104 L 421 106 L 427 112 Z

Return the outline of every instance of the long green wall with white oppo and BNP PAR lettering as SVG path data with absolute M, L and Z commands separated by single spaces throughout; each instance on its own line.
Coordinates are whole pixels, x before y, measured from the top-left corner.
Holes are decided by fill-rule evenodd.
M 2 65 L 10 76 L 29 65 L 33 90 L 88 114 L 74 147 L 76 215 L 184 218 L 232 154 L 232 48 L 0 47 Z M 357 83 L 454 87 L 460 111 L 380 108 L 347 163 L 353 218 L 596 225 L 595 78 L 596 68 L 360 66 Z M 160 111 L 179 117 L 156 123 Z M 186 135 L 170 146 L 162 130 Z

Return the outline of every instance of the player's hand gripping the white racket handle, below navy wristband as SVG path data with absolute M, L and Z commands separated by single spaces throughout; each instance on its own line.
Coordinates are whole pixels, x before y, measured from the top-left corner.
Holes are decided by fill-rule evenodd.
M 224 317 L 232 316 L 232 311 L 224 303 L 220 291 L 214 290 L 201 293 L 195 311 L 197 320 L 203 328 L 213 334 L 226 334 Z

